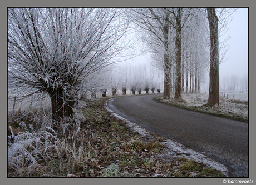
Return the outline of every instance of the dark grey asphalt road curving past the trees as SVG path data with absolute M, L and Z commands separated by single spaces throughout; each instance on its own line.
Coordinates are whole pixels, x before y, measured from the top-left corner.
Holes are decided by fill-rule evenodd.
M 224 164 L 230 177 L 248 177 L 248 123 L 169 106 L 154 101 L 156 96 L 118 97 L 108 106 L 129 121 Z

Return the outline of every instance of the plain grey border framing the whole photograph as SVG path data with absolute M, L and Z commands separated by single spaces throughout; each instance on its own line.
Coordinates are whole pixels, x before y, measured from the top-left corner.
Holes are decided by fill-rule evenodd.
M 255 43 L 255 24 L 253 24 L 254 17 L 255 17 L 255 11 L 254 11 L 254 3 L 253 1 L 245 2 L 245 1 L 234 1 L 234 0 L 218 0 L 218 1 L 204 1 L 204 0 L 196 0 L 196 1 L 189 1 L 189 0 L 181 0 L 172 2 L 170 0 L 132 0 L 132 1 L 119 1 L 119 0 L 95 0 L 95 1 L 53 1 L 53 0 L 45 0 L 45 1 L 32 1 L 32 0 L 26 0 L 26 1 L 6 1 L 1 2 L 1 23 L 4 25 L 1 28 L 1 56 L 2 57 L 2 67 L 1 67 L 1 77 L 3 80 L 2 84 L 4 86 L 3 90 L 1 91 L 1 116 L 4 118 L 3 123 L 1 124 L 1 143 L 2 147 L 4 148 L 1 152 L 2 158 L 1 158 L 1 182 L 3 184 L 70 184 L 75 181 L 75 183 L 81 183 L 81 184 L 101 184 L 101 183 L 107 183 L 107 184 L 223 184 L 223 178 L 77 178 L 77 179 L 65 179 L 65 178 L 7 178 L 7 148 L 6 148 L 6 141 L 7 141 L 7 132 L 6 132 L 6 123 L 7 123 L 7 44 L 6 44 L 6 35 L 7 35 L 7 13 L 6 9 L 7 7 L 45 7 L 45 6 L 67 6 L 67 7 L 74 7 L 74 6 L 84 6 L 84 7 L 163 7 L 163 6 L 186 6 L 186 7 L 194 7 L 194 6 L 200 6 L 200 7 L 249 7 L 249 92 L 254 92 L 255 87 L 253 86 L 253 80 L 255 79 L 255 73 L 253 69 L 255 69 L 255 63 L 253 61 L 252 54 L 254 54 L 254 43 Z M 239 26 L 239 25 L 238 25 Z M 253 38 L 252 38 L 253 37 Z M 255 130 L 255 125 L 253 124 L 253 121 L 255 120 L 255 115 L 252 112 L 252 110 L 255 110 L 255 98 L 254 96 L 249 96 L 249 178 L 240 178 L 240 179 L 254 179 L 255 177 L 255 159 L 253 159 L 253 156 L 255 154 L 255 134 L 253 131 Z M 239 131 L 238 131 L 239 132 Z M 237 179 L 237 178 L 226 178 L 228 179 Z

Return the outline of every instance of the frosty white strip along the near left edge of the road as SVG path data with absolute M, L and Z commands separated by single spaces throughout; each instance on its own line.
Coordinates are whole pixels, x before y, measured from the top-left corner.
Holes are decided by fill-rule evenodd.
M 121 119 L 126 123 L 126 125 L 131 128 L 133 132 L 139 132 L 142 137 L 152 137 L 152 134 L 150 131 L 147 131 L 147 129 L 138 126 L 136 123 L 130 122 L 127 119 L 121 117 L 119 114 L 113 112 L 108 106 L 107 103 L 105 105 L 105 108 L 108 112 L 111 112 L 112 116 L 115 116 L 116 118 Z M 193 149 L 186 148 L 183 144 L 180 144 L 178 142 L 172 141 L 171 139 L 165 139 L 164 142 L 160 142 L 164 146 L 167 147 L 165 149 L 165 152 L 162 154 L 159 154 L 159 157 L 161 158 L 172 158 L 172 157 L 178 157 L 183 156 L 186 159 L 193 159 L 196 162 L 203 162 L 207 166 L 214 168 L 218 171 L 221 171 L 225 176 L 228 177 L 228 168 L 225 167 L 223 164 L 220 164 L 213 159 L 205 156 L 204 154 L 201 154 L 199 152 L 194 151 Z

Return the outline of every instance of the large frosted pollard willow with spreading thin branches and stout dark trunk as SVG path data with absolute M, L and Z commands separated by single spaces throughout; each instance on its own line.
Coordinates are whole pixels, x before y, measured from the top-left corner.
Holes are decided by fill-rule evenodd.
M 127 48 L 123 11 L 8 8 L 8 82 L 14 91 L 50 97 L 53 121 L 72 116 L 76 99 Z

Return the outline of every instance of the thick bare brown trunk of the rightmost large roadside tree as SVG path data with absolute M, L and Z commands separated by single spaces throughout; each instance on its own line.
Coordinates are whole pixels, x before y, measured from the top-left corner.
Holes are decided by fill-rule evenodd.
M 207 8 L 210 27 L 210 84 L 207 106 L 219 106 L 219 34 L 215 8 Z

